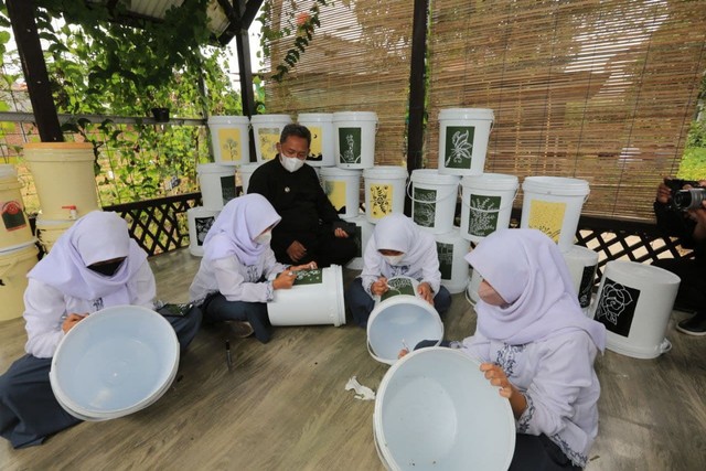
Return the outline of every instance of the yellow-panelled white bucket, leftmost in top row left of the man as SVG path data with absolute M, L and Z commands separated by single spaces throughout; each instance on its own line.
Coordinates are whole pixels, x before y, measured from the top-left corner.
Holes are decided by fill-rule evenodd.
M 213 159 L 222 165 L 239 165 L 250 161 L 250 140 L 247 116 L 211 116 L 208 129 L 213 143 Z

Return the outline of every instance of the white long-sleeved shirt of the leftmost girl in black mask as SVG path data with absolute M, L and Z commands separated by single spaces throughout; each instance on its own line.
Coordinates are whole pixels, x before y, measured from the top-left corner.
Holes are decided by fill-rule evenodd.
M 128 283 L 129 291 L 133 293 L 130 304 L 153 309 L 157 286 L 147 260 Z M 38 358 L 51 358 L 64 338 L 62 324 L 68 314 L 90 314 L 103 308 L 108 306 L 104 306 L 101 298 L 74 298 L 30 278 L 24 291 L 24 329 L 28 335 L 24 351 Z

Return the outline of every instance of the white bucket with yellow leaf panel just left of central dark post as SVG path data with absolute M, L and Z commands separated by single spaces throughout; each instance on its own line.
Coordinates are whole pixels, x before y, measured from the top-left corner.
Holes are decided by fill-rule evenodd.
M 397 165 L 375 165 L 363 170 L 365 215 L 375 224 L 393 213 L 405 211 L 407 170 Z

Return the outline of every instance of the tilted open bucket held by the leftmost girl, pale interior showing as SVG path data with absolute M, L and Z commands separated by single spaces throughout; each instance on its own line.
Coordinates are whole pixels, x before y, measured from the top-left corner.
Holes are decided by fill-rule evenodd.
M 88 315 L 64 335 L 49 377 L 68 414 L 107 420 L 157 402 L 178 366 L 179 341 L 161 314 L 116 306 Z

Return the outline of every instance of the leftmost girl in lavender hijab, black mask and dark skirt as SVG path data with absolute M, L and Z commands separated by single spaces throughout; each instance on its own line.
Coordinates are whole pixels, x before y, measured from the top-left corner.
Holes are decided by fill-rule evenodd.
M 15 448 L 81 420 L 56 402 L 49 381 L 52 356 L 77 322 L 119 304 L 153 309 L 156 283 L 147 254 L 116 213 L 95 211 L 77 220 L 28 274 L 24 291 L 26 355 L 0 376 L 0 435 Z M 200 314 L 167 318 L 182 345 L 195 335 Z

